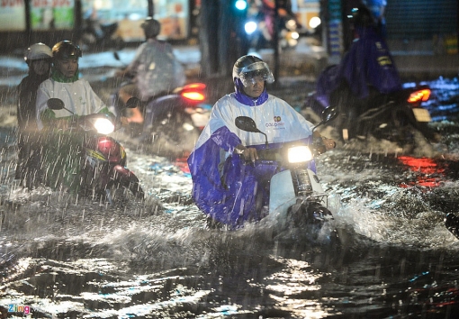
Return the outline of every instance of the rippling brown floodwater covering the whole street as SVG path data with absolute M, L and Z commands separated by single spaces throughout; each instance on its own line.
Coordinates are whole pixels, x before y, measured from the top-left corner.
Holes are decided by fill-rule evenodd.
M 310 242 L 273 215 L 205 229 L 183 161 L 128 146 L 145 203 L 112 207 L 0 171 L 0 307 L 39 318 L 455 318 L 459 240 L 457 80 L 427 107 L 443 139 L 417 156 L 366 141 L 318 159 L 340 244 Z M 13 141 L 9 141 L 13 143 Z M 10 312 L 8 312 L 10 310 Z

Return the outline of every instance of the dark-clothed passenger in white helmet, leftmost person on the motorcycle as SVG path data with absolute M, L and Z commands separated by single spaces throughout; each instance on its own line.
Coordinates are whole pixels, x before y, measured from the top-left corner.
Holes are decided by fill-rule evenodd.
M 41 42 L 32 44 L 24 56 L 29 66 L 29 74 L 17 87 L 19 150 L 15 178 L 21 179 L 21 184 L 25 181 L 25 186 L 29 188 L 40 183 L 35 104 L 40 83 L 49 77 L 51 59 L 49 46 Z

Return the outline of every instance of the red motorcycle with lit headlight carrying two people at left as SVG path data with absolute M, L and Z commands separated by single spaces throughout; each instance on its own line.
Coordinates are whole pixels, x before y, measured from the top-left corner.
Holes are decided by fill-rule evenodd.
M 135 107 L 134 102 L 128 101 L 126 107 Z M 65 109 L 73 114 L 58 98 L 50 98 L 47 105 L 51 110 Z M 104 198 L 110 204 L 122 203 L 130 194 L 137 200 L 143 200 L 144 192 L 139 185 L 139 178 L 126 168 L 126 151 L 118 141 L 107 136 L 115 129 L 107 115 L 80 116 L 70 129 L 72 133 L 85 134 L 84 151 L 79 159 L 80 194 Z

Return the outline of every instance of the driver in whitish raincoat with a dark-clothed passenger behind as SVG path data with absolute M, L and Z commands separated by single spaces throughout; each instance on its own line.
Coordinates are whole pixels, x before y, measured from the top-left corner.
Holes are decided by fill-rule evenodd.
M 40 84 L 37 92 L 37 125 L 44 135 L 45 165 L 48 169 L 46 183 L 58 187 L 61 183 L 76 190 L 79 185 L 79 154 L 82 151 L 84 136 L 70 130 L 75 120 L 89 114 L 110 113 L 101 98 L 94 93 L 89 82 L 78 78 L 78 59 L 82 56 L 80 48 L 71 41 L 60 41 L 52 48 L 53 66 L 51 77 Z M 51 110 L 49 98 L 59 98 L 66 109 Z

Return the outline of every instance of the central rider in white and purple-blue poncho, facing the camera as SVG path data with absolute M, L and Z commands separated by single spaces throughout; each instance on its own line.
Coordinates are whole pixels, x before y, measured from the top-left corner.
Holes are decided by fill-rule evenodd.
M 238 228 L 265 216 L 269 179 L 276 165 L 246 164 L 246 160 L 253 163 L 258 159 L 257 150 L 266 149 L 266 140 L 262 134 L 239 130 L 236 117 L 254 119 L 266 132 L 269 149 L 289 141 L 311 140 L 312 124 L 284 100 L 266 92 L 266 83 L 275 78 L 262 59 L 252 55 L 239 58 L 232 77 L 235 92 L 213 105 L 210 121 L 187 161 L 195 204 L 211 223 Z M 324 141 L 327 149 L 335 147 L 333 140 Z

